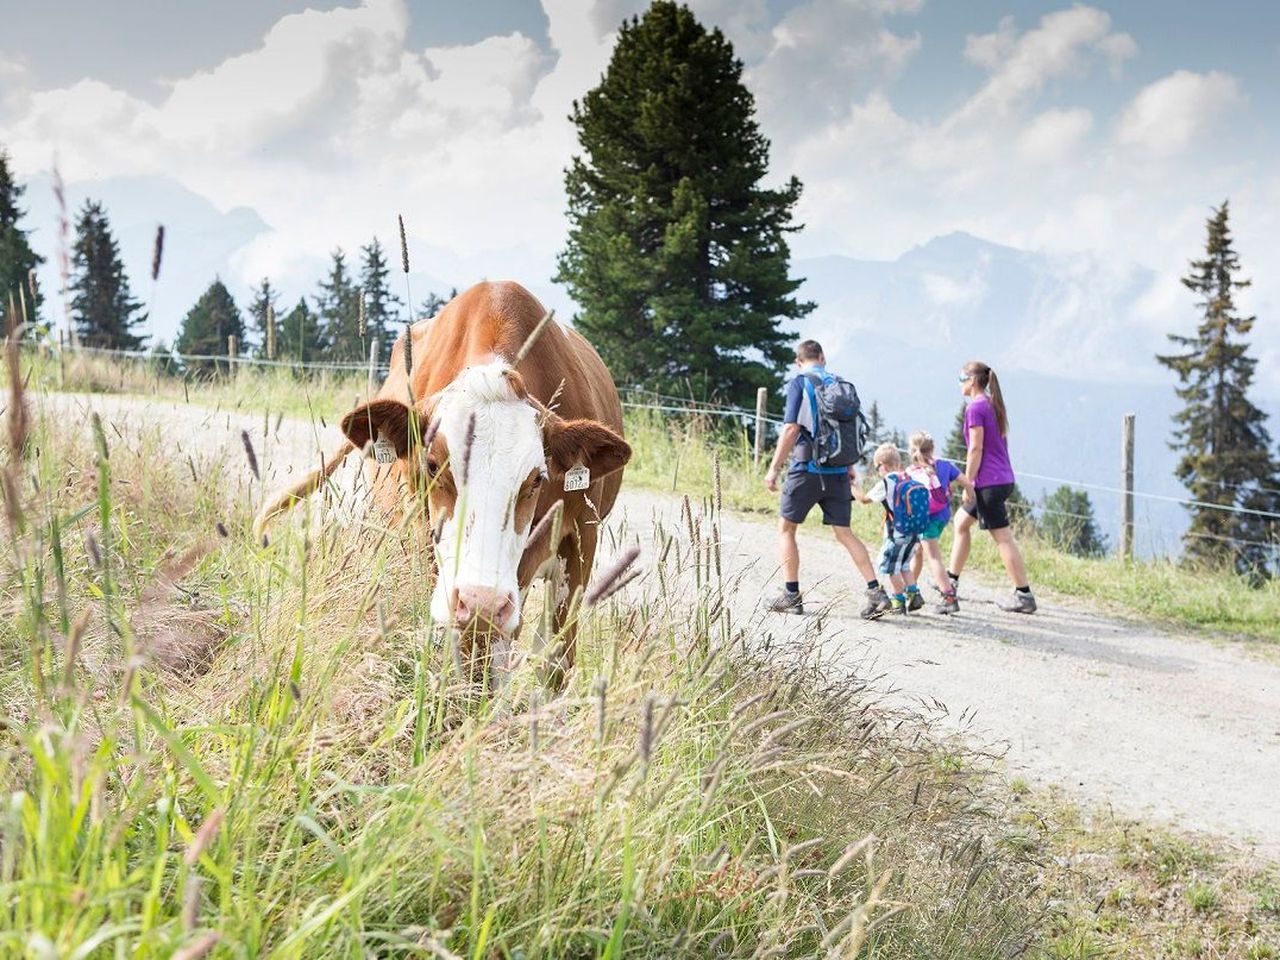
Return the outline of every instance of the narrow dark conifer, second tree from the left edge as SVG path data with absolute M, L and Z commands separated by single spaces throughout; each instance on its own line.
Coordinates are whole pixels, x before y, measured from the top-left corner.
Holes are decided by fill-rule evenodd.
M 102 205 L 88 200 L 76 221 L 70 292 L 72 324 L 79 343 L 105 349 L 142 347 L 146 337 L 133 333 L 146 320 L 136 316 L 142 305 L 129 292 L 120 248 Z

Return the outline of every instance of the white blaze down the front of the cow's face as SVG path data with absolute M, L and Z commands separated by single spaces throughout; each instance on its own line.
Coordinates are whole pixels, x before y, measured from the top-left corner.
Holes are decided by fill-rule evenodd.
M 504 376 L 508 369 L 503 361 L 467 367 L 436 403 L 458 495 L 439 531 L 431 595 L 431 616 L 442 623 L 452 618 L 454 590 L 480 588 L 511 596 L 509 614 L 494 623 L 506 632 L 520 622 L 517 570 L 530 532 L 529 524 L 516 529 L 516 498 L 530 471 L 547 470 L 538 413 L 516 396 Z M 472 413 L 475 435 L 463 468 Z

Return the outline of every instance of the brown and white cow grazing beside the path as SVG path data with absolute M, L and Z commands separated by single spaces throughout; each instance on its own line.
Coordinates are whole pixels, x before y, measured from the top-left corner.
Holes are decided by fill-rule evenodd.
M 631 457 L 613 379 L 575 330 L 550 321 L 512 366 L 544 314 L 520 284 L 486 282 L 413 324 L 412 372 L 401 335 L 378 396 L 342 421 L 349 443 L 323 471 L 264 507 L 255 524 L 260 536 L 352 449 L 371 457 L 372 497 L 384 511 L 425 492 L 435 543 L 431 614 L 451 627 L 474 673 L 488 666 L 492 641 L 509 649 L 524 591 L 553 553 L 563 577 L 553 623 L 562 646 L 553 669 L 572 666 L 568 599 L 590 577 L 599 522 Z M 392 462 L 376 463 L 378 454 Z M 590 471 L 589 486 L 566 492 L 566 474 L 580 479 L 580 467 Z M 530 543 L 558 502 L 559 524 L 544 525 Z M 557 526 L 559 540 L 552 543 Z

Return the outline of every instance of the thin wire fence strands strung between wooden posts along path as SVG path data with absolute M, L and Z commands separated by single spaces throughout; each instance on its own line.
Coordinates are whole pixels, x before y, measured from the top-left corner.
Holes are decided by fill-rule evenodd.
M 56 349 L 56 348 L 55 348 Z M 74 346 L 67 348 L 68 355 L 74 356 L 76 353 L 90 353 L 95 356 L 106 357 L 120 357 L 147 362 L 172 362 L 178 366 L 188 366 L 193 362 L 219 362 L 228 364 L 233 366 L 264 366 L 264 367 L 287 367 L 298 371 L 319 370 L 319 371 L 351 371 L 351 372 L 366 372 L 378 376 L 385 375 L 390 367 L 387 364 L 367 364 L 367 362 L 355 362 L 355 361 L 326 361 L 326 360 L 276 360 L 261 356 L 228 356 L 228 355 L 207 355 L 207 353 L 180 353 L 177 349 L 169 351 L 128 351 L 128 349 L 109 349 L 104 347 L 86 347 Z M 736 407 L 728 403 L 719 403 L 714 401 L 701 401 L 686 397 L 678 397 L 667 393 L 659 393 L 655 390 L 649 390 L 641 387 L 625 387 L 620 390 L 625 399 L 622 399 L 622 407 L 626 410 L 637 411 L 652 411 L 655 413 L 677 413 L 681 416 L 698 416 L 698 417 L 719 417 L 724 420 L 736 421 L 740 426 L 749 428 L 755 425 L 758 421 L 772 428 L 781 428 L 783 425 L 782 420 L 777 417 L 771 417 L 768 415 L 759 415 L 754 410 L 746 410 L 744 407 Z M 906 451 L 902 451 L 904 453 Z M 963 462 L 951 461 L 959 467 L 964 467 Z M 1098 484 L 1087 480 L 1075 480 L 1070 477 L 1060 477 L 1048 474 L 1037 474 L 1028 470 L 1020 470 L 1019 476 L 1027 477 L 1029 480 L 1038 480 L 1043 484 L 1056 484 L 1059 486 L 1066 486 L 1070 489 L 1105 493 L 1115 497 L 1133 495 L 1137 499 L 1146 500 L 1148 503 L 1161 503 L 1161 504 L 1176 504 L 1181 507 L 1190 507 L 1197 509 L 1212 509 L 1225 513 L 1231 513 L 1236 516 L 1252 516 L 1272 522 L 1280 521 L 1280 512 L 1253 509 L 1248 507 L 1240 507 L 1235 504 L 1212 503 L 1210 500 L 1199 500 L 1189 497 L 1175 497 L 1170 494 L 1151 493 L 1148 490 L 1125 490 L 1120 486 L 1114 486 L 1110 484 Z M 1222 484 L 1224 488 L 1234 489 L 1248 489 L 1252 493 L 1260 494 L 1277 494 L 1280 492 L 1270 490 L 1266 488 L 1245 488 L 1239 484 Z M 1073 513 L 1069 511 L 1060 511 L 1047 504 L 1041 504 L 1034 507 L 1034 511 L 1041 516 L 1061 516 L 1064 518 L 1075 520 L 1079 522 L 1093 521 L 1097 522 L 1097 517 Z M 1175 530 L 1170 525 L 1151 524 L 1140 520 L 1133 521 L 1133 527 L 1135 530 L 1144 530 L 1148 532 L 1172 535 L 1176 539 L 1183 538 L 1196 538 L 1206 540 L 1216 540 L 1224 543 L 1231 543 L 1239 547 L 1265 547 L 1272 550 L 1277 549 L 1277 540 L 1248 540 L 1233 536 L 1224 536 L 1219 534 L 1203 534 L 1188 530 Z

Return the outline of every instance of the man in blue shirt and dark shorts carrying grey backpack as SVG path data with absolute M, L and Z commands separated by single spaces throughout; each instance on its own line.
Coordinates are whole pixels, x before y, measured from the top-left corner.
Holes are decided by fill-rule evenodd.
M 867 584 L 861 616 L 874 620 L 890 609 L 888 594 L 876 579 L 867 545 L 849 529 L 854 502 L 851 485 L 856 480 L 854 463 L 861 456 L 864 424 L 858 392 L 852 384 L 827 372 L 827 357 L 817 340 L 801 340 L 796 347 L 796 366 L 800 372 L 786 387 L 787 402 L 778 448 L 764 476 L 764 485 L 777 493 L 778 475 L 787 465 L 778 521 L 783 588 L 768 602 L 768 609 L 804 613 L 796 527 L 818 506 L 822 507 L 822 522 L 849 550 Z

